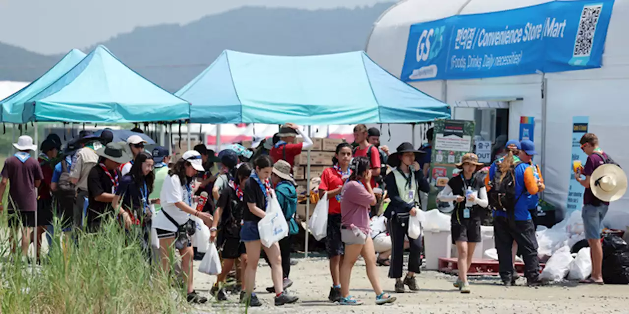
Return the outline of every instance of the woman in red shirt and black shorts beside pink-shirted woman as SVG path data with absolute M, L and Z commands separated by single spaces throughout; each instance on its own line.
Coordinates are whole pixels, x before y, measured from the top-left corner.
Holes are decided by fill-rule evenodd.
M 325 248 L 330 259 L 330 274 L 332 276 L 332 288 L 328 299 L 339 301 L 341 298 L 341 283 L 338 275 L 343 261 L 344 246 L 341 241 L 341 189 L 343 183 L 352 174 L 350 161 L 352 160 L 352 145 L 340 143 L 336 154 L 332 158 L 331 168 L 323 170 L 319 196 L 322 198 L 328 192 L 328 232 L 325 237 Z

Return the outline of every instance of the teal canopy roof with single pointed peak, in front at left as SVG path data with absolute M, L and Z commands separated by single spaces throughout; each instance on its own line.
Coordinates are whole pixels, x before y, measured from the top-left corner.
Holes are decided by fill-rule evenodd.
M 23 121 L 157 122 L 190 117 L 190 106 L 97 46 L 26 101 Z

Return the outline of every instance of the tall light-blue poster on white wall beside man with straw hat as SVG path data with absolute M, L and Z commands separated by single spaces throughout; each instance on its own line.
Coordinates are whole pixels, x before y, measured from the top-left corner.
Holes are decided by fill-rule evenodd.
M 586 153 L 581 149 L 581 137 L 587 133 L 589 118 L 584 116 L 572 117 L 572 156 L 570 158 L 570 187 L 568 189 L 568 199 L 565 203 L 566 217 L 575 210 L 581 210 L 583 206 L 583 192 L 585 188 L 574 178 L 574 163 L 579 162 L 585 165 Z

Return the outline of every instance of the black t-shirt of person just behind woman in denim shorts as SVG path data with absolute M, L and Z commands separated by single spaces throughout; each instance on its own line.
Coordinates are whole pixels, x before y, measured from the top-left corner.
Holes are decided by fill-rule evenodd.
M 240 239 L 240 220 L 243 212 L 249 210 L 247 205 L 237 197 L 233 188 L 226 187 L 218 198 L 218 207 L 223 209 L 220 227 L 225 236 Z

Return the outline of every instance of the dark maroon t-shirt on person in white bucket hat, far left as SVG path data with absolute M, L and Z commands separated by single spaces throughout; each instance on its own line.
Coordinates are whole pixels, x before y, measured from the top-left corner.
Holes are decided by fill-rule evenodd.
M 43 180 L 42 168 L 39 163 L 32 157 L 22 163 L 16 156 L 11 156 L 4 161 L 2 176 L 9 179 L 11 199 L 8 208 L 23 212 L 35 212 L 37 210 L 35 181 Z M 11 200 L 17 208 L 14 208 Z

